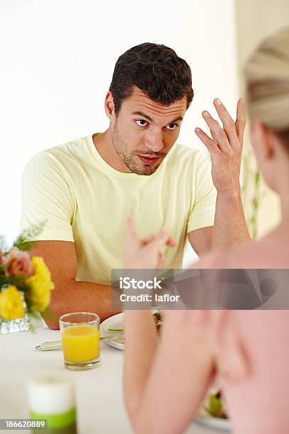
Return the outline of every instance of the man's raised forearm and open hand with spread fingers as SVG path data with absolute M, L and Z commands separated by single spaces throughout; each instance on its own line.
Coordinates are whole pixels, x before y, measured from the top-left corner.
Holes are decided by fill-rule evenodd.
M 244 101 L 242 99 L 238 101 L 236 122 L 233 121 L 220 100 L 215 99 L 214 105 L 223 128 L 207 111 L 203 112 L 203 117 L 210 128 L 212 138 L 200 128 L 196 128 L 196 134 L 210 152 L 212 182 L 217 189 L 212 249 L 228 248 L 250 240 L 239 184 L 246 126 Z M 195 248 L 192 236 L 189 236 L 189 240 Z

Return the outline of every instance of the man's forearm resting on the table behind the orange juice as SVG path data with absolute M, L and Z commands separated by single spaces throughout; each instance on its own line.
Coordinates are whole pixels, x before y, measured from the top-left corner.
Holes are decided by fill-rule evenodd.
M 94 312 L 101 321 L 118 313 L 111 308 L 111 286 L 77 282 L 55 282 L 49 309 L 42 315 L 50 328 L 59 328 L 58 318 L 69 312 Z

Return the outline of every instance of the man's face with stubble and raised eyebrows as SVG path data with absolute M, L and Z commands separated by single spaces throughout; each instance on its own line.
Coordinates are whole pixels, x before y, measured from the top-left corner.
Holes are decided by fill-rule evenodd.
M 186 96 L 163 106 L 135 87 L 112 123 L 113 148 L 130 172 L 157 170 L 179 136 L 185 113 Z

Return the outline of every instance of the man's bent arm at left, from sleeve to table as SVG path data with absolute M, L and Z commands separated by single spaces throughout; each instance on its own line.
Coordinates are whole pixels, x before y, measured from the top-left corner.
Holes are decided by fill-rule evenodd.
M 51 291 L 49 310 L 44 313 L 50 328 L 59 328 L 58 318 L 69 312 L 97 313 L 101 321 L 117 311 L 111 309 L 111 286 L 77 282 L 77 255 L 69 241 L 38 241 L 31 254 L 41 256 L 50 269 L 55 289 Z M 54 316 L 55 318 L 51 318 Z

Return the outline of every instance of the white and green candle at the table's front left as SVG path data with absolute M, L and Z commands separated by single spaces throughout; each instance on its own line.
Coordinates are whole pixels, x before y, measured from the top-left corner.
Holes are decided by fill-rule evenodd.
M 45 433 L 77 434 L 74 385 L 69 377 L 47 374 L 33 379 L 28 383 L 28 403 L 31 419 L 47 419 Z

